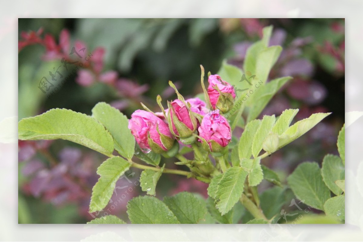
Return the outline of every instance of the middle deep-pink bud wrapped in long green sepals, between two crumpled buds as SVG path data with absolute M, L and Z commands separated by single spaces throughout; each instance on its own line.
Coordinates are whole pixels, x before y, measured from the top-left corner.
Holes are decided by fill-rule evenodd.
M 197 118 L 196 114 L 194 114 L 190 107 L 185 104 L 186 103 L 179 99 L 176 99 L 171 103 L 168 102 L 168 121 L 175 136 L 182 139 L 192 137 L 191 142 L 193 142 L 195 141 L 195 138 L 192 135 L 197 129 Z

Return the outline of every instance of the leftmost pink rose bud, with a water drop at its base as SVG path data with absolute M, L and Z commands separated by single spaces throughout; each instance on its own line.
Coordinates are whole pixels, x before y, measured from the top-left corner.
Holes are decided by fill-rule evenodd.
M 129 129 L 144 153 L 164 153 L 170 150 L 175 138 L 168 125 L 153 113 L 136 110 L 131 114 Z

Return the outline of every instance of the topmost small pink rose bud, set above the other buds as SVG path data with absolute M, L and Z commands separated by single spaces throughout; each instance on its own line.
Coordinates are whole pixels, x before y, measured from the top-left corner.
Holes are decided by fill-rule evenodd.
M 212 108 L 227 113 L 233 107 L 233 101 L 236 97 L 234 88 L 231 84 L 222 80 L 219 75 L 209 75 L 208 82 L 208 96 Z

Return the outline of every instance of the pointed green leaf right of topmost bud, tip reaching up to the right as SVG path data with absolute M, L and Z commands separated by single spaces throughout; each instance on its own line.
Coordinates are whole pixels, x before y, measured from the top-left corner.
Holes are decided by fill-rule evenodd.
M 262 110 L 266 107 L 272 97 L 277 93 L 278 90 L 292 78 L 290 76 L 285 76 L 281 78 L 274 79 L 265 85 L 261 85 L 253 93 L 252 99 L 248 99 L 250 106 L 250 111 L 247 116 L 247 122 L 257 118 Z

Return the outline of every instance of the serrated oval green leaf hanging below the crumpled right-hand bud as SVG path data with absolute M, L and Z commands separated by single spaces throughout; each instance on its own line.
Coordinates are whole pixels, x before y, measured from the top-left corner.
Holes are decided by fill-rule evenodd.
M 228 213 L 242 196 L 247 172 L 242 167 L 231 167 L 223 174 L 216 192 L 216 208 Z

